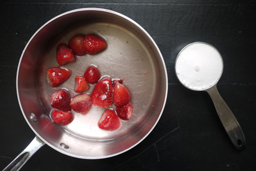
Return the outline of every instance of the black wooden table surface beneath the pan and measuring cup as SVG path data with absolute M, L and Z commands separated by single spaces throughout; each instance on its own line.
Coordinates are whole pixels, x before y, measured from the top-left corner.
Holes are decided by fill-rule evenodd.
M 168 97 L 155 129 L 139 145 L 107 159 L 73 158 L 44 145 L 23 171 L 245 171 L 256 169 L 256 1 L 253 0 L 9 0 L 0 2 L 0 169 L 34 138 L 16 96 L 16 70 L 27 41 L 63 12 L 97 7 L 139 23 L 153 37 L 168 72 Z M 184 88 L 174 62 L 182 47 L 212 44 L 224 60 L 217 87 L 243 129 L 235 150 L 206 92 Z

